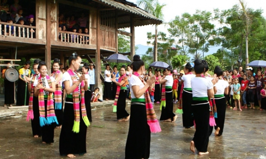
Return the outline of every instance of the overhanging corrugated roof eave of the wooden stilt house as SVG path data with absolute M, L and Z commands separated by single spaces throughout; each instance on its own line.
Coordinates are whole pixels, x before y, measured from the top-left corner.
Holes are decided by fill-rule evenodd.
M 142 25 L 149 25 L 149 24 L 161 24 L 163 22 L 162 20 L 156 18 L 152 14 L 140 9 L 139 7 L 137 7 L 137 5 L 135 6 L 134 4 L 126 2 L 126 1 L 124 1 L 123 3 L 117 2 L 114 0 L 93 0 L 93 1 L 100 2 L 112 8 L 116 8 L 118 10 L 122 10 L 125 12 L 129 12 L 129 13 L 147 18 L 143 20 L 135 20 L 135 26 L 142 26 Z M 128 5 L 128 3 L 130 5 Z M 118 23 L 119 21 L 120 20 L 118 20 Z M 121 19 L 121 21 L 128 21 L 130 23 L 130 17 L 123 18 Z M 129 26 L 130 24 L 128 23 L 119 24 L 119 28 L 127 28 Z

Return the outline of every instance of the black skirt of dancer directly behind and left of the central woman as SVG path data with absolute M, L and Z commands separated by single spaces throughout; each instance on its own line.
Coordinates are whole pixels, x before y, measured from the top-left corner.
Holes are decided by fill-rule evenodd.
M 117 120 L 129 116 L 126 112 L 126 94 L 127 90 L 121 89 L 117 100 Z

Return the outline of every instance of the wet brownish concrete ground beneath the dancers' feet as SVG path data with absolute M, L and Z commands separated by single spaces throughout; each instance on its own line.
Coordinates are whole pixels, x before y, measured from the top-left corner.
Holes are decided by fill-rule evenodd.
M 113 107 L 109 107 L 112 102 L 95 106 L 87 129 L 87 153 L 76 158 L 124 158 L 129 122 L 116 120 Z M 159 104 L 154 108 L 160 118 Z M 130 112 L 130 105 L 126 110 Z M 9 117 L 4 117 L 5 113 Z M 42 144 L 41 138 L 32 137 L 26 113 L 27 108 L 0 106 L 0 158 L 67 158 L 59 155 L 60 129 L 55 129 L 54 144 Z M 150 158 L 266 158 L 266 111 L 227 109 L 223 136 L 212 134 L 210 154 L 203 156 L 190 151 L 195 129 L 184 129 L 182 115 L 178 116 L 175 123 L 160 122 L 162 132 L 151 134 Z

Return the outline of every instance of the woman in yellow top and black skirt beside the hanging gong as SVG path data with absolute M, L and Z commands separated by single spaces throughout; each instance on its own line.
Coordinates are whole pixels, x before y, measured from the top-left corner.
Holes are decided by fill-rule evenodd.
M 16 105 L 24 105 L 25 100 L 26 100 L 26 105 L 29 105 L 29 91 L 28 91 L 28 88 L 26 88 L 26 81 L 24 80 L 24 76 L 30 77 L 30 74 L 31 74 L 31 70 L 29 69 L 30 64 L 31 64 L 31 62 L 27 61 L 25 66 L 18 70 L 19 79 L 17 82 Z M 25 92 L 26 92 L 26 95 L 25 95 Z

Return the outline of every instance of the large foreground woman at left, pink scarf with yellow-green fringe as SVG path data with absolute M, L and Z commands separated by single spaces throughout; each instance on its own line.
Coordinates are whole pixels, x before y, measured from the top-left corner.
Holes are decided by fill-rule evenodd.
M 74 154 L 82 155 L 86 153 L 86 133 L 87 126 L 90 125 L 86 116 L 85 101 L 82 99 L 84 94 L 79 93 L 88 89 L 85 75 L 78 76 L 76 72 L 80 63 L 81 58 L 76 53 L 73 53 L 69 58 L 70 69 L 63 74 L 62 78 L 67 95 L 59 138 L 59 152 L 60 155 L 67 155 L 70 158 L 75 157 Z M 76 108 L 78 105 L 79 108 Z M 83 110 L 81 111 L 81 109 Z M 80 116 L 79 121 L 76 118 L 77 116 Z M 75 125 L 78 122 L 79 126 Z

